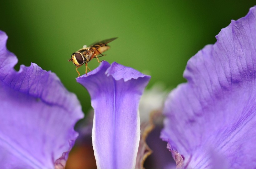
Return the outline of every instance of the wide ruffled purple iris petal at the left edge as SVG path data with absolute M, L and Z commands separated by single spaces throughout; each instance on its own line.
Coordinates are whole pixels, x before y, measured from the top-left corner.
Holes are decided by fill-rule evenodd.
M 63 168 L 83 117 L 80 103 L 34 63 L 16 72 L 6 41 L 0 31 L 0 168 Z

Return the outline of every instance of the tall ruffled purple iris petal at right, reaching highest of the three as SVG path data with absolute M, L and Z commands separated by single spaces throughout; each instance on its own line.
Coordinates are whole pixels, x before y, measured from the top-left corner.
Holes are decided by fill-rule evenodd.
M 161 138 L 177 168 L 256 166 L 256 7 L 186 66 L 165 102 Z

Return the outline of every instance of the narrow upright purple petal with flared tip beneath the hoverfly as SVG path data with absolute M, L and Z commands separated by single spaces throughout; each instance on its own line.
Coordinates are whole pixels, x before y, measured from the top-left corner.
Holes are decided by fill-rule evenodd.
M 150 76 L 106 61 L 77 78 L 91 95 L 98 168 L 134 168 L 140 139 L 138 104 Z

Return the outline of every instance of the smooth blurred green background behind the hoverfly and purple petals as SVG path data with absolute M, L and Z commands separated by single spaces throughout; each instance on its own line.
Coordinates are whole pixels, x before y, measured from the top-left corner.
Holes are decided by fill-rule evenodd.
M 83 45 L 118 37 L 101 59 L 151 75 L 148 88 L 161 82 L 171 89 L 185 82 L 188 59 L 254 5 L 246 0 L 1 1 L 0 30 L 19 59 L 16 70 L 34 62 L 56 73 L 87 113 L 90 96 L 76 83 L 76 66 L 67 62 Z M 96 59 L 88 64 L 98 65 Z M 78 70 L 84 74 L 85 66 Z

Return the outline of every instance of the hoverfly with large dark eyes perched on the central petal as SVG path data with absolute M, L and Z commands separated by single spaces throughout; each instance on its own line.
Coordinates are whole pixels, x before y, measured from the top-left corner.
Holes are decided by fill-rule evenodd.
M 77 68 L 81 67 L 85 63 L 85 74 L 87 75 L 87 68 L 89 71 L 91 71 L 87 66 L 88 62 L 91 61 L 91 59 L 93 59 L 94 57 L 96 57 L 99 63 L 102 62 L 102 61 L 99 61 L 98 57 L 105 56 L 102 53 L 110 48 L 110 46 L 108 46 L 107 43 L 110 43 L 115 39 L 116 38 L 102 40 L 93 45 L 90 45 L 89 47 L 86 47 L 85 45 L 83 46 L 83 48 L 72 53 L 71 59 L 69 59 L 68 62 L 72 61 L 74 65 L 76 65 L 76 71 L 78 73 L 78 77 L 80 76 L 80 73 L 77 70 Z M 97 56 L 99 54 L 100 56 Z

